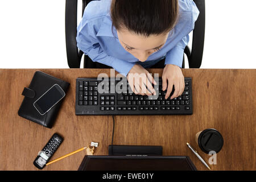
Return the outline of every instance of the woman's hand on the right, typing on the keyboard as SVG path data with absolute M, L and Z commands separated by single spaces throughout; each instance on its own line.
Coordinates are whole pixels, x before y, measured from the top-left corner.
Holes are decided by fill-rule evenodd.
M 184 76 L 181 72 L 180 67 L 173 64 L 167 64 L 164 67 L 163 75 L 163 90 L 167 89 L 166 99 L 170 96 L 172 92 L 172 87 L 174 85 L 175 92 L 172 94 L 171 99 L 175 97 L 181 96 L 185 88 Z M 168 80 L 168 88 L 167 88 L 167 80 Z

